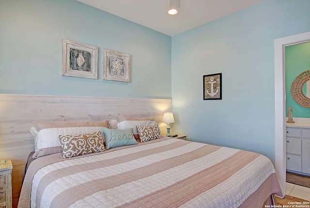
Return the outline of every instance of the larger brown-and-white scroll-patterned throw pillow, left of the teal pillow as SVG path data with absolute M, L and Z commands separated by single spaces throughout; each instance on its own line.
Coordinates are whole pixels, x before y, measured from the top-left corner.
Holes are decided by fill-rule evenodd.
M 62 144 L 63 158 L 105 151 L 100 131 L 78 135 L 59 135 L 59 140 Z

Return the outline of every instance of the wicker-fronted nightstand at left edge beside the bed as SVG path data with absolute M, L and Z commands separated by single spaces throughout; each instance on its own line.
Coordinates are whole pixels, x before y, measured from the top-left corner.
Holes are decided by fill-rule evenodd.
M 0 163 L 0 208 L 12 208 L 12 160 Z

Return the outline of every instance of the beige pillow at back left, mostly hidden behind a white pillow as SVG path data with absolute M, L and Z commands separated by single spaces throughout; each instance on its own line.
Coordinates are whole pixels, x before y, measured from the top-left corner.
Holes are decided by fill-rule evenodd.
M 62 127 L 106 127 L 109 128 L 109 121 L 85 121 L 85 122 L 33 122 L 34 128 L 39 132 L 45 128 Z

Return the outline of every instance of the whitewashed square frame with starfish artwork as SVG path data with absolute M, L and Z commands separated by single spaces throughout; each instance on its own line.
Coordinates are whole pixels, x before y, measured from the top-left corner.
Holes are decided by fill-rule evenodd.
M 103 79 L 130 82 L 130 55 L 104 48 Z

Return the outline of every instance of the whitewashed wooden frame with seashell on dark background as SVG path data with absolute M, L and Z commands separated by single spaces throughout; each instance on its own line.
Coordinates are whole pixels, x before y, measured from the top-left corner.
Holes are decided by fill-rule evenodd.
M 98 79 L 98 47 L 62 39 L 62 76 Z

